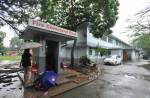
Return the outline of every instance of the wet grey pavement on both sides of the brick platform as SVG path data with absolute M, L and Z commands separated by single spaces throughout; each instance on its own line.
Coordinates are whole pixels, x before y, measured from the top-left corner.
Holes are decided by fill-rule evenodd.
M 100 65 L 103 74 L 96 81 L 54 98 L 150 98 L 150 71 L 143 67 L 143 64 L 147 64 L 147 61 L 118 66 Z M 0 98 L 25 96 L 17 71 L 7 71 L 16 68 L 19 68 L 19 65 L 0 64 L 0 70 L 5 70 L 0 71 Z

